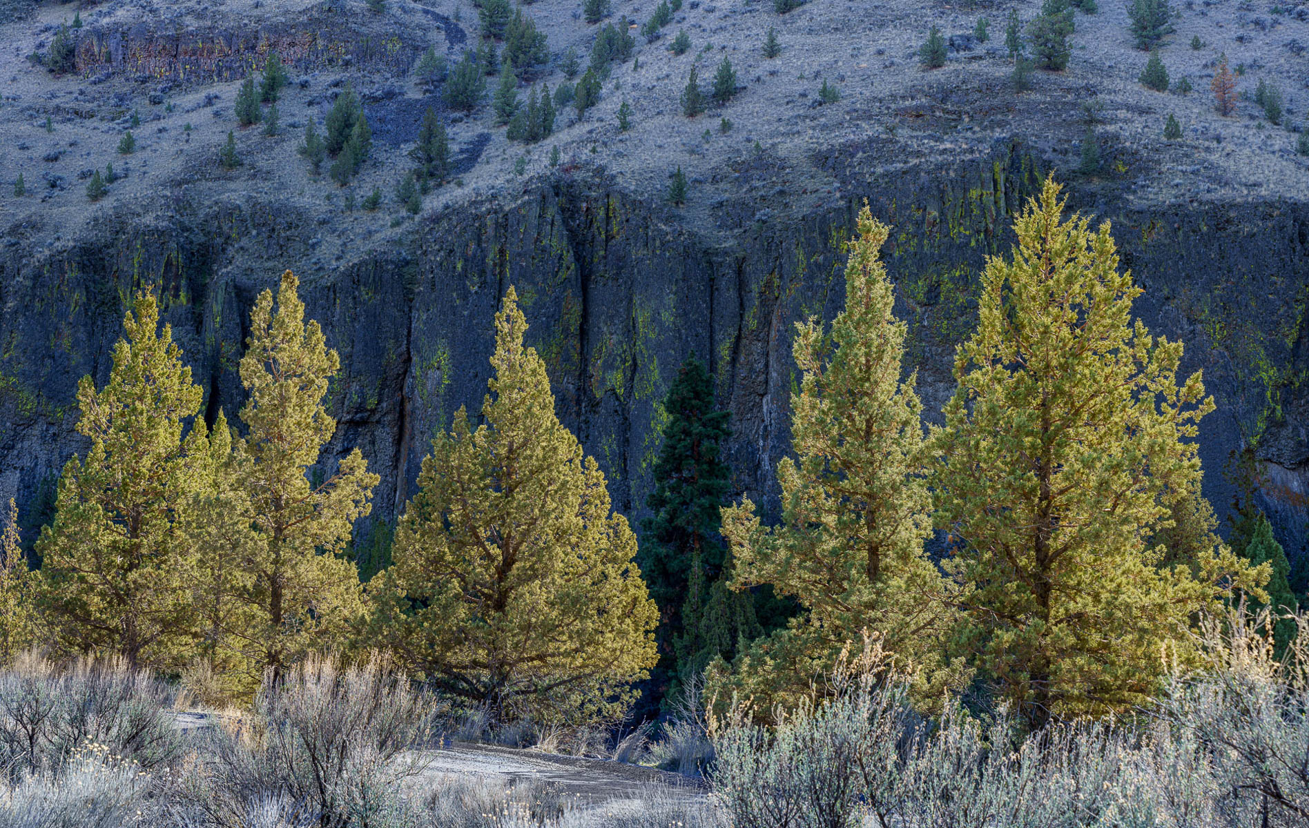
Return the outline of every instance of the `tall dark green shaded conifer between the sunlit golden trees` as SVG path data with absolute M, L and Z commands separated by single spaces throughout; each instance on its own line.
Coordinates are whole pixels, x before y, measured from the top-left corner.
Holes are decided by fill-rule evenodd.
M 656 679 L 670 683 L 672 695 L 713 658 L 730 661 L 737 638 L 759 630 L 749 596 L 724 589 L 730 573 L 720 509 L 729 502 L 732 470 L 721 451 L 732 432 L 728 413 L 713 404 L 713 378 L 703 362 L 682 364 L 664 412 L 654 491 L 645 501 L 652 515 L 637 560 L 660 608 Z

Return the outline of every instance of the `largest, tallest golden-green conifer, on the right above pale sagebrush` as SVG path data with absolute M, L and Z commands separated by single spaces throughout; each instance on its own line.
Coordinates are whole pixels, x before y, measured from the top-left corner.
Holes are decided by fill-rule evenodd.
M 967 585 L 954 645 L 1033 727 L 1147 702 L 1165 642 L 1182 663 L 1192 653 L 1179 625 L 1263 576 L 1220 544 L 1172 566 L 1148 542 L 1168 497 L 1199 491 L 1194 437 L 1213 402 L 1199 374 L 1177 383 L 1181 344 L 1132 324 L 1140 288 L 1109 225 L 1063 209 L 1047 179 L 1012 259 L 987 260 L 932 443 L 937 527 Z

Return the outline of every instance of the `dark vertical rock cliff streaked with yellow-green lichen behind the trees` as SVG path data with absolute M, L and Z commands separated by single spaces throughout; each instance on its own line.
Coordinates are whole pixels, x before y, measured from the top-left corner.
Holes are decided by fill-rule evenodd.
M 678 215 L 560 173 L 512 203 L 431 215 L 399 243 L 334 268 L 304 271 L 309 314 L 342 357 L 331 387 L 339 419 L 323 464 L 359 446 L 382 483 L 374 519 L 412 493 L 432 434 L 461 405 L 480 407 L 492 315 L 513 284 L 546 357 L 559 413 L 609 475 L 615 508 L 636 517 L 652 487 L 660 400 L 690 353 L 709 362 L 733 417 L 730 460 L 742 492 L 776 508 L 772 470 L 788 450 L 788 399 L 797 382 L 793 322 L 831 318 L 843 302 L 840 245 L 867 198 L 893 225 L 884 251 L 910 361 L 929 417 L 949 396 L 954 345 L 975 320 L 984 256 L 1008 252 L 1009 216 L 1039 184 L 1043 165 L 1018 144 L 991 158 L 914 174 L 860 178 L 834 169 L 839 203 L 772 220 L 728 203 L 712 233 Z M 1263 506 L 1295 553 L 1309 487 L 1309 204 L 1249 203 L 1141 212 L 1071 188 L 1072 207 L 1110 218 L 1145 288 L 1140 318 L 1187 344 L 1217 412 L 1202 426 L 1207 493 L 1221 511 L 1232 450 L 1255 445 Z M 177 203 L 120 215 L 93 238 L 0 256 L 0 496 L 14 496 L 30 530 L 48 511 L 52 480 L 81 446 L 73 430 L 77 379 L 102 382 L 124 302 L 157 285 L 166 318 L 207 390 L 206 416 L 234 419 L 236 364 L 249 307 L 302 260 L 313 222 L 259 203 Z M 726 241 L 723 241 L 726 239 Z M 367 527 L 360 527 L 367 531 Z

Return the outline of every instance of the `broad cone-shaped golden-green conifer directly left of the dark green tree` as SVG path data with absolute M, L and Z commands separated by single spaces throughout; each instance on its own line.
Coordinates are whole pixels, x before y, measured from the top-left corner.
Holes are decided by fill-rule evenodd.
M 480 425 L 461 408 L 423 460 L 369 586 L 376 640 L 437 688 L 500 718 L 620 710 L 656 661 L 657 608 L 605 475 L 555 417 L 509 288 Z

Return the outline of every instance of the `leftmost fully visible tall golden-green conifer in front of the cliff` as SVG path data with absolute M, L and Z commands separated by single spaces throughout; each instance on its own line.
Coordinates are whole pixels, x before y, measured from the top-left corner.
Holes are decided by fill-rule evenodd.
M 77 386 L 77 432 L 90 446 L 64 466 L 55 519 L 37 542 L 39 600 L 62 650 L 166 668 L 194 629 L 182 526 L 203 423 L 183 434 L 203 392 L 151 293 L 136 296 L 123 328 L 109 382 Z

